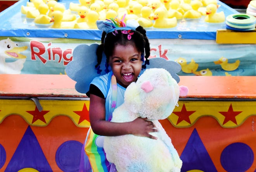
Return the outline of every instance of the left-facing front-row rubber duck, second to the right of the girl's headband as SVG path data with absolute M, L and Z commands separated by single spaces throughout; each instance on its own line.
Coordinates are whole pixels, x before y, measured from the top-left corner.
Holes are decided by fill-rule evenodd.
M 168 11 L 164 7 L 157 8 L 154 12 L 154 24 L 155 28 L 172 28 L 176 27 L 177 19 L 173 17 L 171 19 L 168 18 Z

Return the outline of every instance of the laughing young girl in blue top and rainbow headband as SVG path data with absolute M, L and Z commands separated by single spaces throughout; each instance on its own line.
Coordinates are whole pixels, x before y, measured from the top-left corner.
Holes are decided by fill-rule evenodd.
M 104 52 L 106 66 L 109 65 L 111 71 L 93 79 L 86 93 L 90 97 L 91 128 L 87 133 L 85 152 L 93 172 L 108 172 L 114 171 L 115 167 L 106 159 L 102 136 L 133 134 L 157 139 L 149 134 L 157 132 L 157 129 L 151 121 L 142 118 L 126 123 L 110 121 L 114 108 L 124 101 L 127 86 L 135 82 L 140 71 L 145 69 L 145 64 L 149 64 L 150 47 L 145 29 L 136 21 L 129 20 L 125 25 L 118 19 L 98 21 L 97 26 L 103 33 L 102 44 L 97 49 L 98 64 L 95 69 L 101 71 L 99 64 Z M 144 58 L 145 64 L 142 65 Z

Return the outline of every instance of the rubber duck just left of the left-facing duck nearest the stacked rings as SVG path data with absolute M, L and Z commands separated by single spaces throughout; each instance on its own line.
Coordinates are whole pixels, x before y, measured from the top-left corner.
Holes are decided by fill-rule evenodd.
M 192 9 L 186 11 L 183 15 L 185 19 L 199 19 L 202 17 L 202 14 L 198 12 L 198 8 L 202 7 L 202 2 L 199 0 L 192 0 L 190 2 Z

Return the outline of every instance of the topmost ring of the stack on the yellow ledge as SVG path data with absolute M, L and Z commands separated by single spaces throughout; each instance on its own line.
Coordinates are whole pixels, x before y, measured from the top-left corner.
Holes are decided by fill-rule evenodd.
M 242 18 L 242 19 L 239 19 Z M 231 14 L 228 15 L 226 20 L 228 21 L 228 23 L 230 24 L 253 24 L 255 23 L 255 17 L 253 15 L 250 14 L 244 14 L 244 13 L 239 13 L 239 14 Z

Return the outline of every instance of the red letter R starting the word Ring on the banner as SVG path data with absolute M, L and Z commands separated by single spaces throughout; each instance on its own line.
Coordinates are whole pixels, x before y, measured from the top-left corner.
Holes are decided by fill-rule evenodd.
M 36 40 L 30 41 L 30 49 L 31 49 L 31 60 L 36 60 L 36 56 L 45 64 L 47 62 L 41 55 L 45 53 L 45 46 Z

